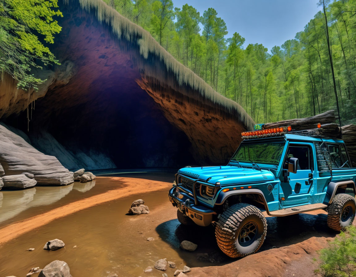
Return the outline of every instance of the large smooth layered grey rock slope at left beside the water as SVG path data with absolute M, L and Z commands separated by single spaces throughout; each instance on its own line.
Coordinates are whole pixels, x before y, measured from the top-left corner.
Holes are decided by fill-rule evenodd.
M 4 187 L 27 188 L 37 184 L 67 185 L 73 174 L 54 156 L 44 155 L 22 137 L 0 125 L 0 164 Z

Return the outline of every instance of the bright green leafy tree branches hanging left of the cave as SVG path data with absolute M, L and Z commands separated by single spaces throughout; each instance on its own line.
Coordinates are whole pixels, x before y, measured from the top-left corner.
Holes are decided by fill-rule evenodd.
M 18 81 L 18 86 L 36 87 L 43 82 L 30 74 L 58 61 L 43 43 L 53 43 L 53 34 L 61 27 L 53 19 L 62 16 L 57 0 L 3 0 L 0 2 L 0 70 Z

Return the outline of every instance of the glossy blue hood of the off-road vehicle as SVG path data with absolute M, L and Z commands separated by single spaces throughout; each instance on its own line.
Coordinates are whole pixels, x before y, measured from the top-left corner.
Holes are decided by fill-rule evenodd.
M 237 166 L 206 166 L 206 167 L 184 167 L 178 173 L 193 179 L 201 179 L 210 184 L 220 182 L 221 185 L 243 184 L 253 182 L 274 181 L 274 175 L 265 169 L 262 171 L 254 168 Z M 209 179 L 211 178 L 211 179 Z M 209 179 L 209 181 L 207 181 Z

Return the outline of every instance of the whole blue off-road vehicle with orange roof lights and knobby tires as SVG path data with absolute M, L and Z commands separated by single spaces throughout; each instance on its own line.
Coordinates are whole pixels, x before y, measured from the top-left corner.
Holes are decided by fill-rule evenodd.
M 263 213 L 287 216 L 323 209 L 331 229 L 351 225 L 356 168 L 344 141 L 325 138 L 318 130 L 287 126 L 245 132 L 226 166 L 180 169 L 169 190 L 179 222 L 213 223 L 216 241 L 230 257 L 260 249 L 267 232 Z

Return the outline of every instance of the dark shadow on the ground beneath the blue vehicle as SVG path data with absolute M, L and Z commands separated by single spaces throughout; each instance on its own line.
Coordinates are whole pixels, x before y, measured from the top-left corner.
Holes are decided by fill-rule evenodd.
M 327 215 L 299 214 L 287 217 L 269 217 L 267 236 L 261 251 L 279 248 L 305 241 L 310 237 L 334 237 L 337 232 L 328 228 Z M 156 231 L 162 240 L 175 249 L 180 257 L 189 259 L 191 266 L 225 265 L 236 259 L 225 256 L 215 241 L 214 226 L 185 226 L 177 219 L 166 221 L 157 226 Z M 193 253 L 179 249 L 180 242 L 189 240 L 198 245 Z

